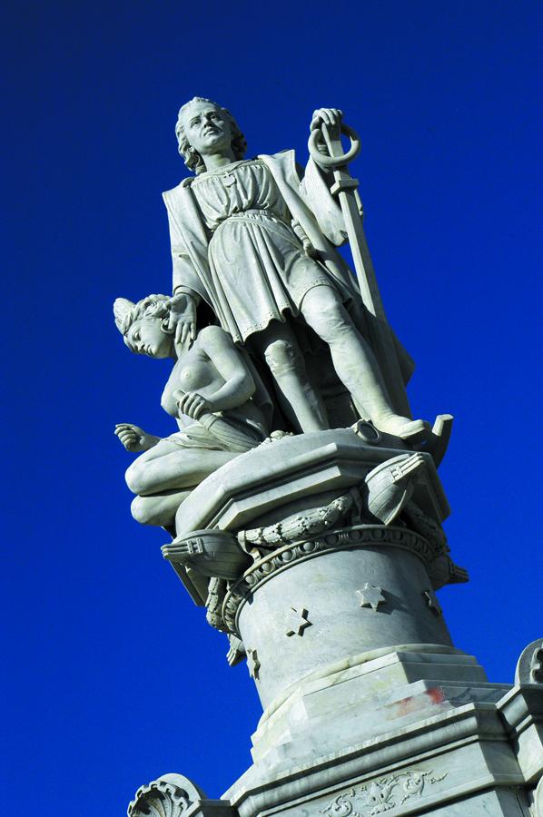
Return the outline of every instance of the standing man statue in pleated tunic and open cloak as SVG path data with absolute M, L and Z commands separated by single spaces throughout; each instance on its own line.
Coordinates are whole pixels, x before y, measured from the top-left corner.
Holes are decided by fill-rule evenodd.
M 311 126 L 320 123 L 337 128 L 341 112 L 315 112 Z M 353 320 L 362 312 L 360 292 L 332 246 L 345 241 L 345 232 L 319 168 L 310 160 L 301 182 L 292 151 L 243 161 L 245 140 L 232 115 L 201 97 L 183 105 L 176 134 L 196 172 L 164 193 L 176 337 L 194 335 L 196 308 L 205 300 L 237 344 L 266 360 L 291 421 L 303 430 L 325 428 L 291 330 L 291 319 L 301 317 L 330 347 L 361 417 L 401 438 L 420 435 L 425 424 L 395 410 Z M 409 377 L 400 346 L 399 362 Z

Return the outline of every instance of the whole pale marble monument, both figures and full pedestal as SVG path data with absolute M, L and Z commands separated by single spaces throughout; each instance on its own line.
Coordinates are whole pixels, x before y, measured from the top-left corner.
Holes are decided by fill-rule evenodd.
M 442 528 L 452 418 L 411 416 L 349 172 L 358 135 L 330 108 L 310 132 L 305 170 L 293 151 L 247 160 L 231 113 L 184 104 L 194 175 L 163 194 L 173 292 L 114 304 L 129 349 L 173 359 L 177 430 L 115 428 L 139 454 L 133 517 L 167 531 L 163 558 L 263 708 L 221 799 L 165 773 L 128 815 L 542 817 L 543 640 L 512 685 L 452 643 L 436 596 L 468 580 Z

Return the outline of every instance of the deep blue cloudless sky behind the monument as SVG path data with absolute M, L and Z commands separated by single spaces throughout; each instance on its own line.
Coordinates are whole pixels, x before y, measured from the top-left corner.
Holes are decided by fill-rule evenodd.
M 244 664 L 129 513 L 115 422 L 167 434 L 166 368 L 116 296 L 170 289 L 160 193 L 194 94 L 250 155 L 306 155 L 311 112 L 361 134 L 370 249 L 418 363 L 418 414 L 456 427 L 441 476 L 467 586 L 440 593 L 496 681 L 541 635 L 541 34 L 537 2 L 23 2 L 3 15 L 7 785 L 17 813 L 122 814 L 164 772 L 219 796 L 250 763 Z M 4 803 L 9 811 L 8 803 Z

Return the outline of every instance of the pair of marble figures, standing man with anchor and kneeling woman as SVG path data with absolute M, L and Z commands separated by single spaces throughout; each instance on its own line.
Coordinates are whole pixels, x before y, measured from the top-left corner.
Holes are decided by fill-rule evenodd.
M 366 448 L 384 435 L 388 453 L 377 464 L 406 447 L 426 450 L 436 463 L 444 453 L 451 418 L 440 416 L 433 433 L 428 423 L 410 419 L 404 387 L 412 361 L 386 320 L 388 349 L 376 334 L 377 285 L 372 269 L 362 270 L 360 280 L 364 238 L 352 232 L 357 213 L 346 202 L 358 182 L 345 178 L 345 156 L 332 159 L 338 145 L 341 153 L 340 131 L 353 133 L 337 109 L 313 114 L 311 158 L 302 174 L 292 151 L 244 160 L 242 132 L 216 103 L 194 97 L 181 108 L 179 151 L 196 175 L 163 194 L 173 295 L 114 305 L 130 349 L 176 361 L 162 405 L 181 430 L 161 439 L 132 424 L 115 428 L 125 448 L 142 452 L 126 480 L 136 494 L 133 517 L 143 524 L 178 536 L 182 504 L 217 469 L 270 434 L 327 431 L 330 376 L 356 408 L 340 412 L 339 422 L 336 413 L 336 427 L 369 420 L 365 437 L 360 423 L 354 427 Z M 338 192 L 341 206 L 332 195 Z M 360 200 L 353 201 L 361 217 Z M 347 236 L 360 289 L 335 250 Z M 357 479 L 376 465 L 371 456 L 365 463 Z M 398 490 L 390 482 L 382 501 L 395 508 Z M 322 507 L 331 498 L 323 497 Z M 366 504 L 371 515 L 375 502 Z

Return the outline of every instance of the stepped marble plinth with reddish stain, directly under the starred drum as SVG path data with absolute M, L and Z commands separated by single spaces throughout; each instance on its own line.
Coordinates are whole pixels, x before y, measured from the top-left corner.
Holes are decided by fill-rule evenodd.
M 262 715 L 252 736 L 259 773 L 277 774 L 363 739 L 404 729 L 462 704 L 495 704 L 510 688 L 489 684 L 471 655 L 442 645 L 402 645 L 312 674 Z

